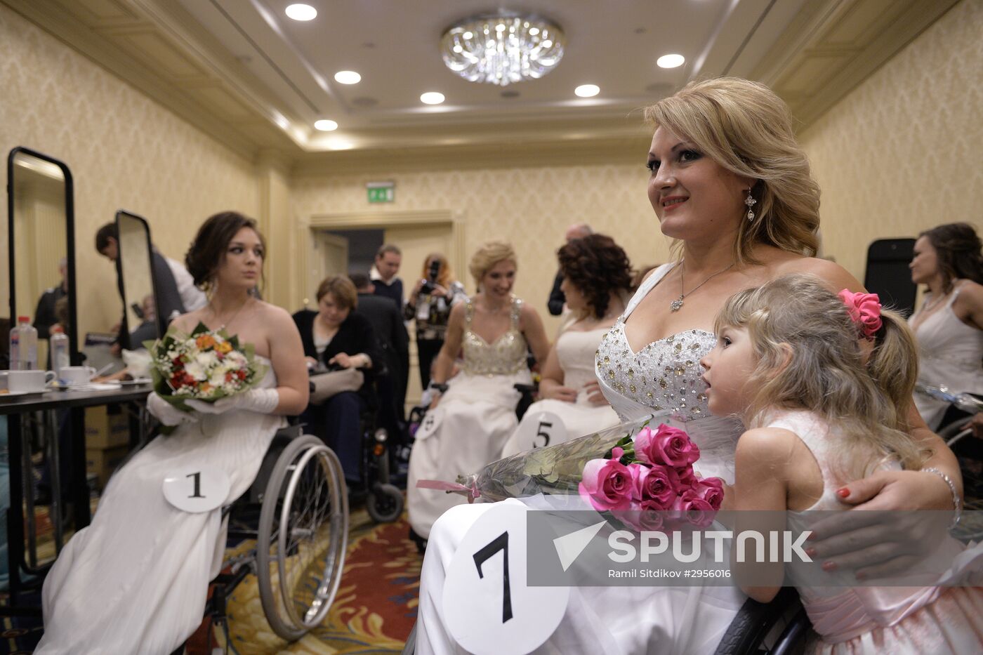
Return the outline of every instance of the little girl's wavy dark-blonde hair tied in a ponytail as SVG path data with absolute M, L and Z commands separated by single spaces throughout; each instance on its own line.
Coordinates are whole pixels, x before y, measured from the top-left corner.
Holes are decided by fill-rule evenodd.
M 757 368 L 751 426 L 771 409 L 806 409 L 838 427 L 840 467 L 859 477 L 886 459 L 917 469 L 926 451 L 908 434 L 906 413 L 918 377 L 914 337 L 899 315 L 881 312 L 869 351 L 837 294 L 814 275 L 784 275 L 731 296 L 715 331 L 747 329 Z

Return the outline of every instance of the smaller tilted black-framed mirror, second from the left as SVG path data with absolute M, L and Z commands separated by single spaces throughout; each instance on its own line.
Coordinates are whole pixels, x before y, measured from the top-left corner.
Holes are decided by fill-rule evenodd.
M 150 227 L 146 220 L 120 209 L 116 212 L 116 231 L 119 235 L 116 271 L 124 308 L 120 345 L 137 350 L 144 347 L 144 341 L 160 336 L 166 329 L 167 317 L 162 315 L 157 302 Z

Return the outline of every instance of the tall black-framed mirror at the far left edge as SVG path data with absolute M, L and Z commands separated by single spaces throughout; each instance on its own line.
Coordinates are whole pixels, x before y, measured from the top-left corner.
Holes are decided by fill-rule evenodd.
M 48 366 L 48 337 L 61 326 L 79 364 L 72 173 L 63 162 L 15 148 L 7 157 L 7 290 L 11 326 L 19 316 L 37 328 L 37 368 Z

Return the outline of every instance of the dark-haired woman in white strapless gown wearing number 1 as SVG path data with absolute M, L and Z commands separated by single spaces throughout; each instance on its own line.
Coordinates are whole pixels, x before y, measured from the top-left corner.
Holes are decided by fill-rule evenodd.
M 176 426 L 134 455 L 106 485 L 91 525 L 69 541 L 43 589 L 38 653 L 170 653 L 202 622 L 208 581 L 225 547 L 221 506 L 252 484 L 285 416 L 308 401 L 301 338 L 290 315 L 250 295 L 262 277 L 256 221 L 232 211 L 199 229 L 187 255 L 208 304 L 176 327 L 225 327 L 268 364 L 258 387 L 183 412 L 151 393 L 147 408 Z M 165 477 L 225 477 L 226 498 L 191 513 L 164 498 Z

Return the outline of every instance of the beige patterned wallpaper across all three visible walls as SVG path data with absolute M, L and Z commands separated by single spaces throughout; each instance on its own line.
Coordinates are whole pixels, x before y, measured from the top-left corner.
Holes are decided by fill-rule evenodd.
M 801 137 L 824 190 L 826 252 L 858 277 L 874 239 L 979 222 L 981 26 L 983 0 L 963 0 Z M 0 149 L 39 149 L 75 174 L 84 329 L 108 327 L 119 313 L 112 268 L 90 245 L 116 208 L 145 215 L 154 241 L 176 258 L 213 211 L 259 217 L 271 238 L 267 297 L 291 309 L 306 279 L 295 255 L 318 214 L 450 212 L 464 221 L 469 254 L 487 239 L 510 239 L 519 257 L 516 290 L 544 316 L 552 253 L 571 222 L 612 235 L 636 265 L 668 257 L 646 199 L 644 139 L 631 165 L 517 168 L 492 160 L 485 168 L 406 173 L 380 160 L 371 175 L 291 179 L 258 170 L 2 6 L 0 80 Z M 370 206 L 365 183 L 385 179 L 396 183 L 396 203 Z

